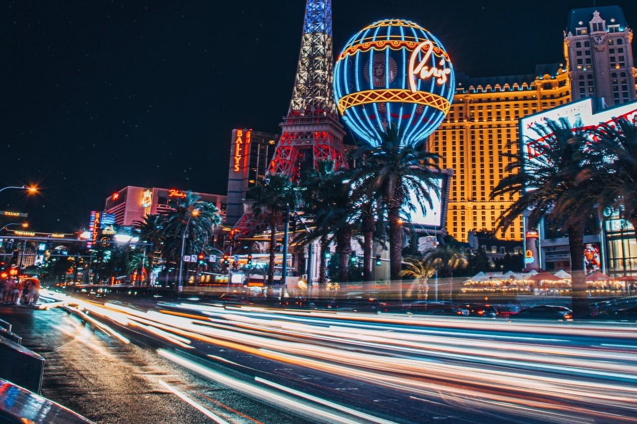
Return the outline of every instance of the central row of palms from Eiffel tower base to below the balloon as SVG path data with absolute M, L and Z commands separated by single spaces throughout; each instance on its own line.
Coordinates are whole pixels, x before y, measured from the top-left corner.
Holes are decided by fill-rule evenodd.
M 253 211 L 267 215 L 271 231 L 270 269 L 275 260 L 277 224 L 283 211 L 299 210 L 311 222 L 311 229 L 294 240 L 298 244 L 318 241 L 320 266 L 318 280 L 326 281 L 326 253 L 336 242 L 339 257 L 338 281 L 348 280 L 348 262 L 354 234 L 363 236 L 363 278 L 371 280 L 373 238 L 385 237 L 389 227 L 390 279 L 400 285 L 403 258 L 403 220 L 410 211 L 432 206 L 431 194 L 436 183 L 436 159 L 433 153 L 412 146 L 399 145 L 399 132 L 389 129 L 383 143 L 375 148 L 361 148 L 355 155 L 354 169 L 335 169 L 331 160 L 317 166 L 292 182 L 287 176 L 271 175 L 248 192 Z M 408 194 L 415 194 L 417 204 L 410 204 Z M 269 276 L 269 285 L 273 276 Z M 400 293 L 399 286 L 393 287 Z

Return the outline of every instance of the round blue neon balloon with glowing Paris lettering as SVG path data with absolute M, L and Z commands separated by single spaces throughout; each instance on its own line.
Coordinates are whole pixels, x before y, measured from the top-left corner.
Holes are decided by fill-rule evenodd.
M 334 66 L 345 124 L 377 146 L 387 127 L 416 145 L 440 125 L 454 97 L 454 68 L 436 37 L 414 22 L 380 20 L 347 42 Z

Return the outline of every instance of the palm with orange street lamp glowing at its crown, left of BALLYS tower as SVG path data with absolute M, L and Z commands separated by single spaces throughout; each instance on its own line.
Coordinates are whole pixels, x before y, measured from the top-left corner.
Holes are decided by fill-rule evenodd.
M 173 260 L 177 264 L 183 260 L 180 257 L 182 237 L 186 252 L 205 254 L 210 250 L 214 229 L 222 222 L 221 215 L 213 203 L 199 199 L 201 197 L 189 191 L 175 211 L 164 216 L 162 255 L 166 260 Z

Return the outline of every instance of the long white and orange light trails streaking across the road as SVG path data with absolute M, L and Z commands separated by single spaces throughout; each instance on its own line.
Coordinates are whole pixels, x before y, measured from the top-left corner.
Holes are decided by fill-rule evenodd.
M 164 303 L 159 310 L 142 311 L 113 302 L 56 299 L 76 313 L 89 313 L 94 319 L 173 344 L 177 352 L 162 350 L 162 357 L 197 374 L 214 376 L 211 379 L 218 383 L 222 383 L 222 373 L 212 367 L 251 366 L 222 353 L 206 355 L 206 346 L 359 381 L 391 393 L 399 399 L 397 404 L 403 402 L 400 399 L 412 407 L 420 404 L 423 411 L 437 405 L 461 411 L 469 419 L 478 414 L 533 421 L 637 422 L 634 325 L 188 303 Z M 115 332 L 111 327 L 97 328 L 106 334 Z M 208 365 L 192 362 L 179 351 L 201 352 Z M 241 387 L 241 392 L 254 397 L 264 397 L 275 389 L 285 392 L 276 396 L 296 399 L 308 416 L 317 408 L 342 422 L 375 418 L 369 407 L 358 411 L 263 378 L 222 384 Z M 414 421 L 419 419 L 414 417 Z

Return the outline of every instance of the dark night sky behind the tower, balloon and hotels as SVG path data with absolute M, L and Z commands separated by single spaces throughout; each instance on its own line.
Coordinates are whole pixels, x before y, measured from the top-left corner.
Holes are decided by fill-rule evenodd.
M 333 0 L 334 51 L 375 20 L 407 18 L 456 71 L 528 74 L 563 60 L 571 8 L 592 1 Z M 637 27 L 637 2 L 619 4 Z M 225 194 L 231 129 L 278 132 L 304 1 L 0 2 L 0 209 L 70 232 L 125 185 Z M 636 43 L 633 43 L 633 46 Z

